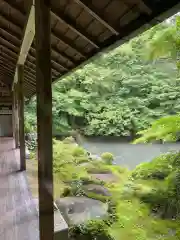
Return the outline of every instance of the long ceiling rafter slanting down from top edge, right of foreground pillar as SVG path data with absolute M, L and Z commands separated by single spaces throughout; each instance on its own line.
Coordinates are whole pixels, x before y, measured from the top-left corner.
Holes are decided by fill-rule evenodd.
M 113 34 L 118 35 L 118 29 L 112 26 L 107 20 L 104 20 L 104 16 L 100 11 L 95 9 L 91 1 L 89 0 L 75 0 L 75 2 L 81 5 L 89 14 L 91 14 L 96 20 L 98 20 L 102 25 L 104 25 Z

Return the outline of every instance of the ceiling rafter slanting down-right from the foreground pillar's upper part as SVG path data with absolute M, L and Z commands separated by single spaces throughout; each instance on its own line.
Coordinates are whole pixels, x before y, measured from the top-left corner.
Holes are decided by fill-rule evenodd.
M 74 21 L 72 21 L 68 16 L 66 16 L 63 12 L 57 12 L 55 9 L 51 9 L 52 14 L 59 21 L 66 24 L 73 32 L 77 33 L 83 39 L 85 39 L 88 43 L 94 46 L 96 49 L 99 49 L 98 43 L 96 43 L 95 39 L 92 36 L 88 35 L 84 32 L 84 30 L 78 26 Z

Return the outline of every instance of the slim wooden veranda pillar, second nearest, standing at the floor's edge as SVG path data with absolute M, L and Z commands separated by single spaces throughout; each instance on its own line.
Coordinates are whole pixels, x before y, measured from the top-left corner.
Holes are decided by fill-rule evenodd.
M 26 170 L 26 155 L 25 155 L 25 135 L 24 135 L 24 66 L 17 66 L 18 76 L 18 103 L 19 103 L 19 143 L 20 143 L 20 170 Z

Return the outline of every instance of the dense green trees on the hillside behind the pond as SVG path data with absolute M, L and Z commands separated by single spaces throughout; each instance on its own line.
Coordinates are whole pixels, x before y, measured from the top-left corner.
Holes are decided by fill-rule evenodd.
M 149 55 L 147 45 L 153 57 L 165 49 L 171 56 L 174 29 L 174 25 L 160 24 L 57 82 L 53 86 L 53 134 L 71 135 L 79 129 L 83 135 L 134 138 L 153 120 L 179 112 L 175 62 L 170 57 L 155 64 L 144 59 L 144 53 Z M 33 100 L 26 106 L 31 125 L 35 112 Z

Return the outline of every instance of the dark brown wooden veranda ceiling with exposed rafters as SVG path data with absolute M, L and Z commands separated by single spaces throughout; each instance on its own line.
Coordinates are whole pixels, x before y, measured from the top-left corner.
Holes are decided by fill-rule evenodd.
M 32 0 L 0 0 L 0 81 L 9 89 L 31 5 Z M 119 45 L 124 43 L 179 9 L 179 0 L 52 0 L 52 82 L 106 47 L 119 40 Z M 30 98 L 36 93 L 35 41 L 24 71 L 24 94 Z M 0 102 L 5 97 L 1 88 Z

